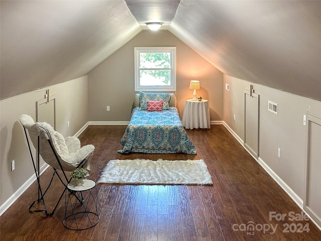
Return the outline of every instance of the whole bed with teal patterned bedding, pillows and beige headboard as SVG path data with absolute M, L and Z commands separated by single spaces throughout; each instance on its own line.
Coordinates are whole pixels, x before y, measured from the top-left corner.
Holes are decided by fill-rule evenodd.
M 158 107 L 150 109 L 152 105 L 150 103 Z M 123 146 L 123 149 L 118 150 L 121 154 L 129 152 L 197 154 L 182 125 L 176 108 L 175 94 L 144 92 L 135 94 L 134 109 L 120 144 Z

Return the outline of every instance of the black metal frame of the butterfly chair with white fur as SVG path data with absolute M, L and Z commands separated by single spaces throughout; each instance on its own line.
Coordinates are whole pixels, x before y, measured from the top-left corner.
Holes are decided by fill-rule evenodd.
M 58 207 L 58 204 L 59 204 L 60 200 L 62 199 L 64 193 L 68 190 L 68 189 L 67 189 L 67 184 L 71 181 L 71 178 L 69 178 L 69 179 L 67 178 L 67 175 L 66 175 L 66 173 L 65 173 L 65 171 L 64 171 L 64 169 L 63 169 L 63 167 L 62 167 L 62 165 L 61 165 L 61 162 L 59 161 L 58 155 L 57 155 L 57 153 L 56 153 L 56 151 L 55 151 L 55 149 L 54 149 L 51 141 L 48 140 L 49 145 L 50 145 L 50 147 L 51 147 L 51 149 L 52 149 L 52 151 L 53 151 L 53 153 L 54 153 L 54 155 L 55 155 L 55 157 L 56 157 L 56 159 L 57 159 L 57 162 L 58 162 L 58 164 L 59 164 L 59 166 L 60 166 L 60 169 L 61 169 L 61 171 L 62 171 L 62 173 L 63 173 L 63 177 L 61 177 L 61 176 L 59 175 L 59 173 L 57 172 L 57 169 L 56 169 L 56 168 L 52 167 L 52 168 L 54 169 L 54 173 L 53 173 L 53 175 L 52 175 L 52 177 L 51 177 L 51 180 L 50 180 L 50 183 L 49 183 L 48 187 L 47 187 L 46 190 L 43 192 L 43 190 L 42 190 L 42 188 L 41 188 L 41 185 L 40 185 L 40 173 L 39 173 L 39 170 L 40 170 L 40 154 L 39 154 L 40 145 L 39 145 L 39 136 L 38 136 L 38 148 L 37 148 L 37 157 L 38 157 L 38 161 L 37 161 L 38 171 L 37 171 L 36 164 L 35 164 L 35 160 L 34 160 L 34 157 L 33 157 L 33 155 L 32 155 L 32 151 L 31 151 L 31 147 L 30 147 L 30 143 L 29 143 L 29 138 L 28 138 L 27 130 L 26 130 L 25 127 L 24 127 L 24 130 L 25 130 L 25 135 L 26 135 L 26 139 L 27 139 L 27 143 L 28 143 L 28 148 L 29 148 L 31 160 L 32 160 L 32 163 L 33 163 L 35 175 L 36 175 L 37 182 L 38 182 L 38 199 L 35 200 L 35 201 L 30 205 L 29 211 L 30 211 L 30 212 L 45 212 L 45 214 L 46 214 L 47 216 L 52 216 L 52 215 L 55 213 L 56 208 Z M 80 164 L 77 166 L 77 168 L 82 167 L 82 166 L 86 163 L 86 161 L 87 161 L 87 159 L 82 160 L 82 161 L 80 162 Z M 76 168 L 75 168 L 75 169 L 76 169 Z M 59 197 L 59 200 L 58 200 L 56 206 L 54 207 L 54 209 L 53 209 L 51 212 L 49 212 L 48 209 L 47 209 L 47 206 L 46 206 L 46 202 L 45 202 L 45 194 L 47 193 L 48 189 L 50 188 L 51 183 L 52 183 L 55 175 L 58 176 L 59 180 L 62 182 L 62 184 L 64 185 L 65 188 L 64 188 L 63 192 L 61 193 L 61 195 L 60 195 L 60 197 Z M 72 192 L 71 192 L 71 193 L 72 193 Z M 78 199 L 78 201 L 79 201 L 81 204 L 83 204 L 83 202 L 84 202 L 83 198 L 80 199 L 80 198 L 77 197 L 77 195 L 75 195 L 75 196 L 76 196 L 76 198 Z M 43 210 L 42 210 L 42 209 L 32 210 L 32 207 L 35 205 L 36 202 L 38 202 L 38 203 L 42 202 L 42 203 L 43 203 L 43 206 L 44 206 L 44 209 L 43 209 Z

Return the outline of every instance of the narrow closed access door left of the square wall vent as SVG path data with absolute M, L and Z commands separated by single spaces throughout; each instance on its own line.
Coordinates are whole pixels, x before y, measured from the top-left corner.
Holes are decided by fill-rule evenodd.
M 259 95 L 244 90 L 244 147 L 259 157 Z

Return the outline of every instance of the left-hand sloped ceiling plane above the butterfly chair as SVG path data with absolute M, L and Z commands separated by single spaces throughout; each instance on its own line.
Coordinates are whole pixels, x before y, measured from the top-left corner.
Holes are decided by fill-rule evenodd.
M 88 74 L 141 31 L 124 1 L 1 1 L 1 98 Z

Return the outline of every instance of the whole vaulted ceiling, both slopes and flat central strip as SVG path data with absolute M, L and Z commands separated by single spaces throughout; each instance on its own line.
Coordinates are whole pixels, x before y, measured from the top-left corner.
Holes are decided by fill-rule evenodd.
M 88 74 L 163 22 L 223 73 L 321 100 L 321 1 L 1 1 L 1 98 Z

